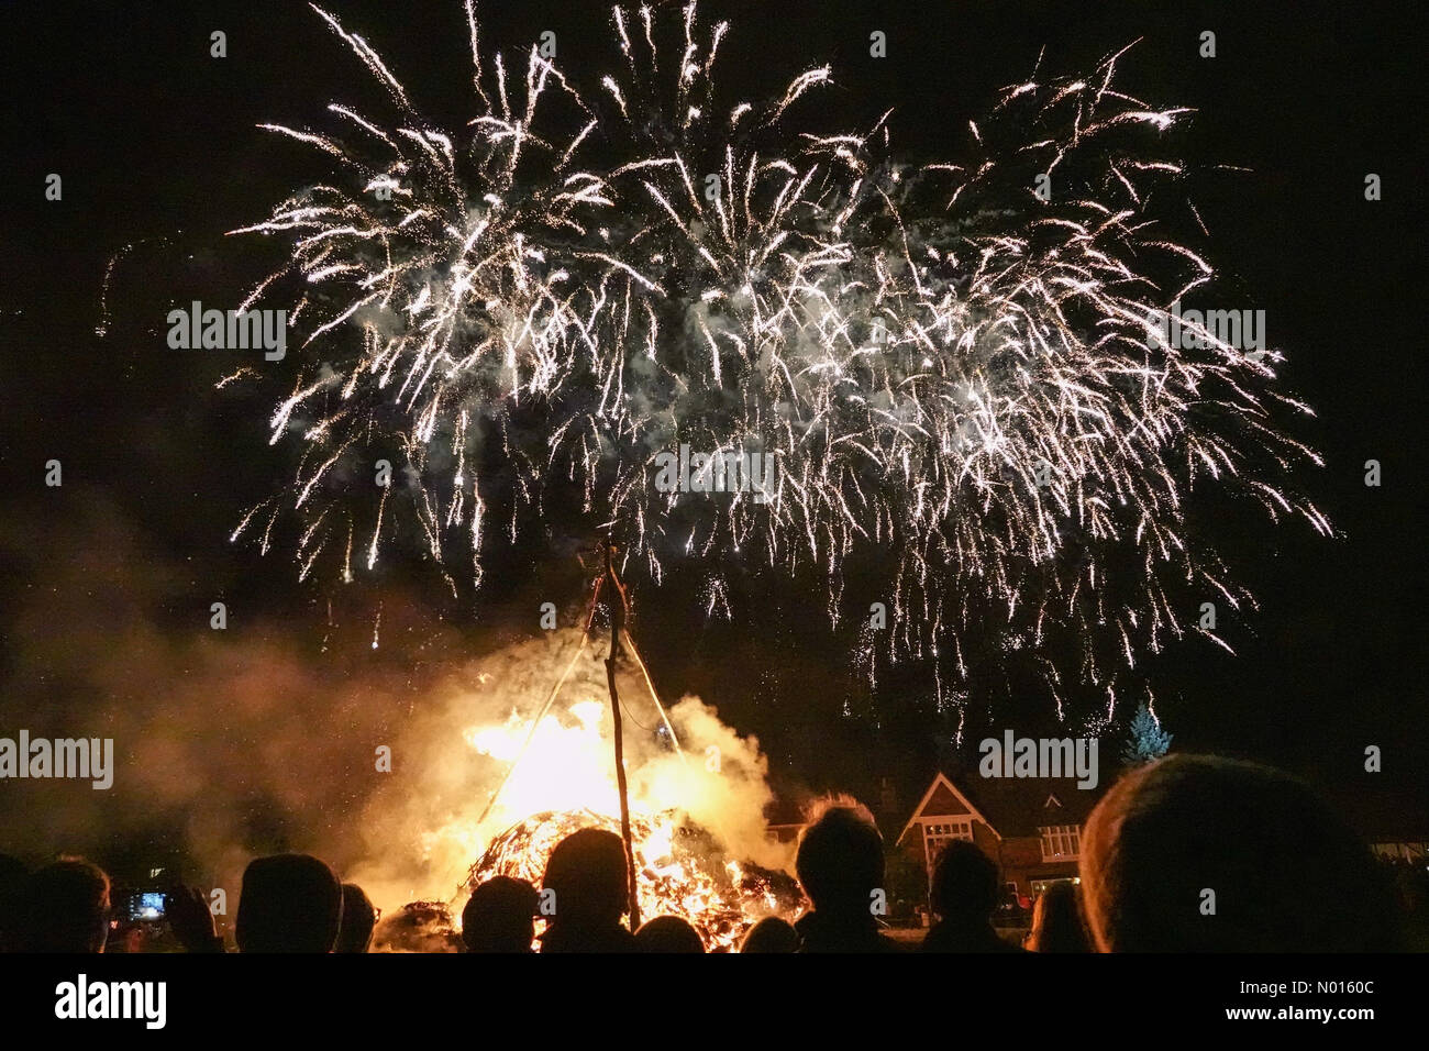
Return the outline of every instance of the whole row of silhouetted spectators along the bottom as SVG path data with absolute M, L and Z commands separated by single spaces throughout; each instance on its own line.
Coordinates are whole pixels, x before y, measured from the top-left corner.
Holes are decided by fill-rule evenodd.
M 1420 862 L 1398 879 L 1302 782 L 1268 766 L 1172 755 L 1133 769 L 1093 809 L 1080 882 L 1047 887 L 1023 947 L 995 928 L 997 865 L 952 841 L 929 887 L 936 922 L 920 945 L 895 939 L 872 904 L 885 844 L 857 804 L 829 801 L 802 829 L 795 868 L 806 908 L 753 924 L 739 952 L 1369 952 L 1425 951 L 1429 884 Z M 433 934 L 423 904 L 380 917 L 356 884 L 312 855 L 254 858 L 234 924 L 239 952 L 704 952 L 684 918 L 632 932 L 620 837 L 586 828 L 550 855 L 542 887 L 494 877 L 462 912 L 460 935 Z M 0 855 L 0 951 L 103 952 L 110 879 L 66 858 L 29 871 Z M 166 895 L 189 952 L 223 952 L 209 902 Z M 437 908 L 437 907 L 433 907 Z M 437 911 L 440 911 L 437 908 Z M 543 929 L 540 929 L 543 927 Z

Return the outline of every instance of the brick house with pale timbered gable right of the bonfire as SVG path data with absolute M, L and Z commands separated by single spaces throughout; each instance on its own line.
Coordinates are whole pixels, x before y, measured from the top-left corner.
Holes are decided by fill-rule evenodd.
M 1082 825 L 1099 792 L 1076 778 L 965 778 L 935 775 L 897 838 L 932 879 L 942 848 L 967 839 L 1002 872 L 1007 901 L 1026 902 L 1049 884 L 1077 878 Z

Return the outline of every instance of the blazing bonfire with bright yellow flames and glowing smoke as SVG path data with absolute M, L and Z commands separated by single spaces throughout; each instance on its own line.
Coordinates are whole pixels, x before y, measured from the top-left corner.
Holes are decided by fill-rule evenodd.
M 579 628 L 546 632 L 476 658 L 414 714 L 393 744 L 403 776 L 370 799 L 367 854 L 353 871 L 379 905 L 420 898 L 459 909 L 494 875 L 540 887 L 562 838 L 583 827 L 619 832 L 600 649 Z M 767 837 L 773 794 L 759 742 L 693 696 L 666 709 L 660 732 L 640 669 L 623 661 L 617 678 L 632 715 L 624 762 L 640 914 L 682 915 L 714 948 L 787 912 L 793 858 Z

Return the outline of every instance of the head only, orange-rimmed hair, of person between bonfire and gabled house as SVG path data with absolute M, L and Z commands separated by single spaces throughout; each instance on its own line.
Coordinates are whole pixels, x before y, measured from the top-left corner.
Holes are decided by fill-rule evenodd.
M 883 837 L 863 806 L 833 805 L 799 834 L 795 871 L 815 912 L 867 917 L 883 887 Z

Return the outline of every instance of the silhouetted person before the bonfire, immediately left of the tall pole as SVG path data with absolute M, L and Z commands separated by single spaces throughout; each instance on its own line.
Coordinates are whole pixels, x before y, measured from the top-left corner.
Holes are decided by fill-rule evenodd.
M 554 914 L 542 952 L 634 952 L 634 935 L 620 925 L 629 911 L 624 844 L 614 832 L 583 828 L 550 852 L 543 889 L 554 892 Z

